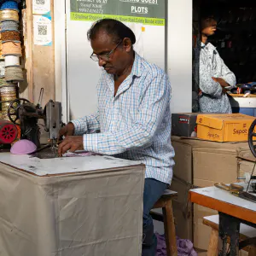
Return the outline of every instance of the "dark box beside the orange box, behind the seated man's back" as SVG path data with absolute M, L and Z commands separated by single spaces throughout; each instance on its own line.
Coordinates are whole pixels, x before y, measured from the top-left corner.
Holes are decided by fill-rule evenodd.
M 172 135 L 191 137 L 198 113 L 172 113 Z

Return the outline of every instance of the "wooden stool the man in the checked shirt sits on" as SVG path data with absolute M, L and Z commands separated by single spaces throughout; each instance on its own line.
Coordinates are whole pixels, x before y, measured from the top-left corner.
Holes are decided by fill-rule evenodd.
M 153 219 L 164 223 L 167 256 L 177 256 L 176 232 L 172 212 L 172 199 L 175 197 L 177 197 L 177 192 L 166 189 L 153 207 L 153 209 L 162 208 L 163 215 L 157 212 L 150 212 Z

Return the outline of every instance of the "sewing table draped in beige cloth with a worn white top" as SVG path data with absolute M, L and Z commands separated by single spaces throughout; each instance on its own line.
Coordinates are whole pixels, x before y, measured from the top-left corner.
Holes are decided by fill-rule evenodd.
M 0 153 L 0 255 L 140 256 L 145 166 Z

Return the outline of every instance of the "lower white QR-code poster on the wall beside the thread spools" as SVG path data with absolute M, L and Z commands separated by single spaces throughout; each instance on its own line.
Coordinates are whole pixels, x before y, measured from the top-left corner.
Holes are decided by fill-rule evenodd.
M 51 16 L 33 15 L 34 44 L 52 45 Z

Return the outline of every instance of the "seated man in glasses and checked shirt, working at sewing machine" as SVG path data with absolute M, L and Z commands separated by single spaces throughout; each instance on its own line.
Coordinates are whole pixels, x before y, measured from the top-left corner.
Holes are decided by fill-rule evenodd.
M 83 148 L 146 166 L 143 194 L 143 256 L 154 256 L 149 211 L 172 180 L 171 84 L 166 73 L 133 50 L 136 38 L 118 20 L 96 22 L 88 32 L 90 58 L 104 68 L 97 85 L 98 111 L 63 127 L 58 153 Z M 100 133 L 92 133 L 100 131 Z

